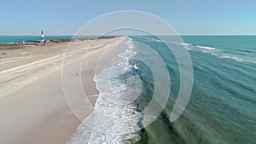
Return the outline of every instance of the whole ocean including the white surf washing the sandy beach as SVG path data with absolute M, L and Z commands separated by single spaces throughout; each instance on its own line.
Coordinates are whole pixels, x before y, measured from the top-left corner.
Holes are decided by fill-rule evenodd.
M 67 143 L 255 144 L 256 36 L 182 39 L 127 37 L 112 66 L 96 74 L 95 111 Z M 189 102 L 174 122 L 184 66 L 166 43 L 188 51 L 193 68 Z

